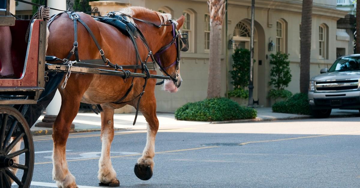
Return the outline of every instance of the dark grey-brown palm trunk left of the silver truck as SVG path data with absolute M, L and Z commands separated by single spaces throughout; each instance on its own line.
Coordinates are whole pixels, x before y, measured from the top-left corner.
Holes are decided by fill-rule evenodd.
M 312 0 L 302 1 L 300 44 L 300 92 L 307 93 L 310 81 Z

